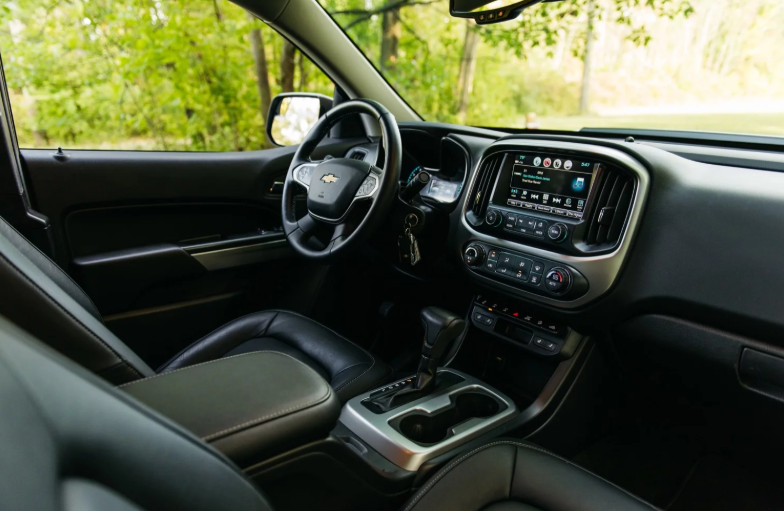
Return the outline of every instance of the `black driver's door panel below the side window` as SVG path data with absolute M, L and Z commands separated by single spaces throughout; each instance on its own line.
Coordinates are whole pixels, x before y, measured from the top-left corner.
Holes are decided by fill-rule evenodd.
M 327 138 L 314 158 L 366 141 Z M 51 221 L 56 261 L 155 367 L 260 307 L 307 312 L 307 288 L 292 283 L 320 270 L 295 260 L 278 230 L 276 183 L 295 150 L 21 157 L 34 207 Z

